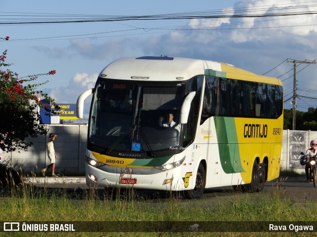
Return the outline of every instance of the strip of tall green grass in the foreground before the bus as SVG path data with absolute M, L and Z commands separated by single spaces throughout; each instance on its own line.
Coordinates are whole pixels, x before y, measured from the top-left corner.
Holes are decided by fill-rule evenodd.
M 134 221 L 158 225 L 185 224 L 184 229 L 189 230 L 188 222 L 222 222 L 220 230 L 225 230 L 233 221 L 251 223 L 254 221 L 274 222 L 298 220 L 315 220 L 316 204 L 292 202 L 285 199 L 281 183 L 271 193 L 228 193 L 228 195 L 212 199 L 186 200 L 179 196 L 165 198 L 138 197 L 133 192 L 120 192 L 112 197 L 101 197 L 98 189 L 78 190 L 68 192 L 66 189 L 35 188 L 26 184 L 18 189 L 5 189 L 0 192 L 0 221 L 85 221 L 97 225 L 98 222 L 112 221 L 115 232 L 75 232 L 63 233 L 63 236 L 75 237 L 101 237 L 101 236 L 141 236 L 141 237 L 165 237 L 165 236 L 222 236 L 223 233 L 204 232 L 120 232 L 124 226 L 135 225 Z M 256 196 L 256 197 L 255 197 Z M 305 217 L 305 219 L 304 219 Z M 183 223 L 184 222 L 184 223 Z M 102 223 L 104 224 L 104 223 Z M 176 223 L 177 224 L 177 223 Z M 85 223 L 83 223 L 85 225 Z M 116 226 L 115 226 L 116 225 Z M 201 224 L 202 225 L 202 224 Z M 238 223 L 239 225 L 239 223 Z M 169 227 L 169 226 L 168 226 Z M 85 227 L 87 229 L 90 226 Z M 137 227 L 135 227 L 137 228 Z M 142 226 L 139 227 L 143 230 Z M 166 229 L 172 231 L 171 229 Z M 177 228 L 177 227 L 176 227 Z M 147 228 L 144 227 L 144 230 Z M 85 229 L 86 230 L 86 229 Z M 165 230 L 165 229 L 164 229 Z M 195 228 L 194 228 L 195 230 Z M 56 236 L 58 233 L 1 233 L 1 236 Z M 233 236 L 306 236 L 307 233 L 225 233 L 227 237 Z

